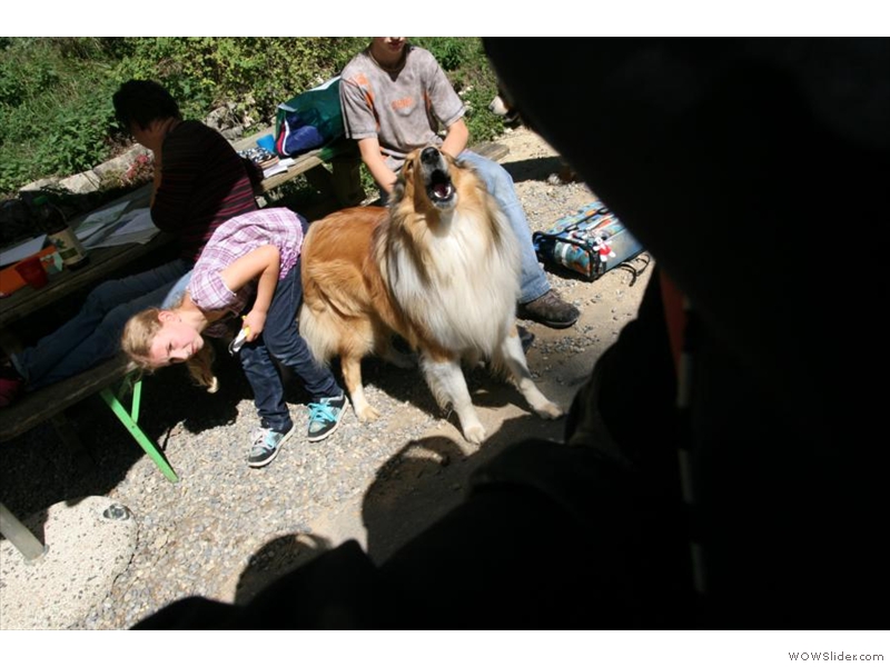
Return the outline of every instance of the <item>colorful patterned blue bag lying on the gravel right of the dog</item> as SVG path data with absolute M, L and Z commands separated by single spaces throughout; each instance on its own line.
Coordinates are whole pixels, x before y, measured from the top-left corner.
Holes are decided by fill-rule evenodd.
M 532 240 L 537 258 L 546 266 L 570 269 L 591 281 L 643 251 L 640 241 L 599 199 L 547 231 L 534 232 Z

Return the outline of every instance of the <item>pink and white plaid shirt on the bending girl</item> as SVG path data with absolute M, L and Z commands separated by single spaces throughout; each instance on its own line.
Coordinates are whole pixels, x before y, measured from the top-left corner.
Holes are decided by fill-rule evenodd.
M 220 271 L 260 246 L 275 246 L 281 253 L 278 280 L 299 259 L 303 228 L 299 217 L 285 208 L 263 209 L 231 218 L 220 225 L 195 263 L 188 293 L 201 310 L 228 310 L 239 315 L 256 291 L 256 281 L 233 292 Z

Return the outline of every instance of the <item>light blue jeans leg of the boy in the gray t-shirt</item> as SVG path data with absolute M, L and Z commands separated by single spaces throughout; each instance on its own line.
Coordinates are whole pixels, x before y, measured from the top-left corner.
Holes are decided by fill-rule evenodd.
M 532 230 L 528 220 L 525 219 L 525 211 L 522 208 L 520 198 L 516 197 L 516 189 L 513 187 L 513 178 L 497 162 L 482 156 L 465 150 L 458 158 L 469 162 L 485 181 L 485 187 L 492 197 L 497 200 L 504 211 L 513 232 L 520 240 L 521 258 L 521 291 L 520 303 L 534 301 L 550 291 L 550 282 L 544 275 L 544 269 L 537 262 L 537 255 L 532 242 Z

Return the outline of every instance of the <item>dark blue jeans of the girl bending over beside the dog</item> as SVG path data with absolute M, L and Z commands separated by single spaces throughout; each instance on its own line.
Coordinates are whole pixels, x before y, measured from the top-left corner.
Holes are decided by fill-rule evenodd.
M 275 288 L 275 295 L 266 315 L 263 334 L 241 348 L 239 357 L 247 381 L 254 389 L 254 405 L 264 428 L 287 432 L 294 426 L 285 404 L 281 377 L 273 358 L 293 370 L 303 380 L 313 401 L 337 397 L 343 394 L 334 374 L 320 366 L 309 352 L 306 341 L 297 328 L 297 309 L 303 301 L 303 281 L 299 277 L 300 261 Z

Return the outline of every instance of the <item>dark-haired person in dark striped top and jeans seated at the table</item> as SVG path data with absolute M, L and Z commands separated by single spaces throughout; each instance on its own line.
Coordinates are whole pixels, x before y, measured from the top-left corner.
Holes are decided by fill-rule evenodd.
M 24 391 L 76 376 L 119 351 L 123 325 L 160 306 L 224 221 L 257 209 L 251 166 L 216 130 L 182 120 L 170 93 L 154 81 L 130 80 L 113 96 L 121 128 L 155 155 L 151 220 L 176 235 L 180 256 L 90 292 L 77 316 L 0 367 L 0 407 Z M 254 180 L 251 180 L 254 179 Z M 174 288 L 176 287 L 176 290 Z

